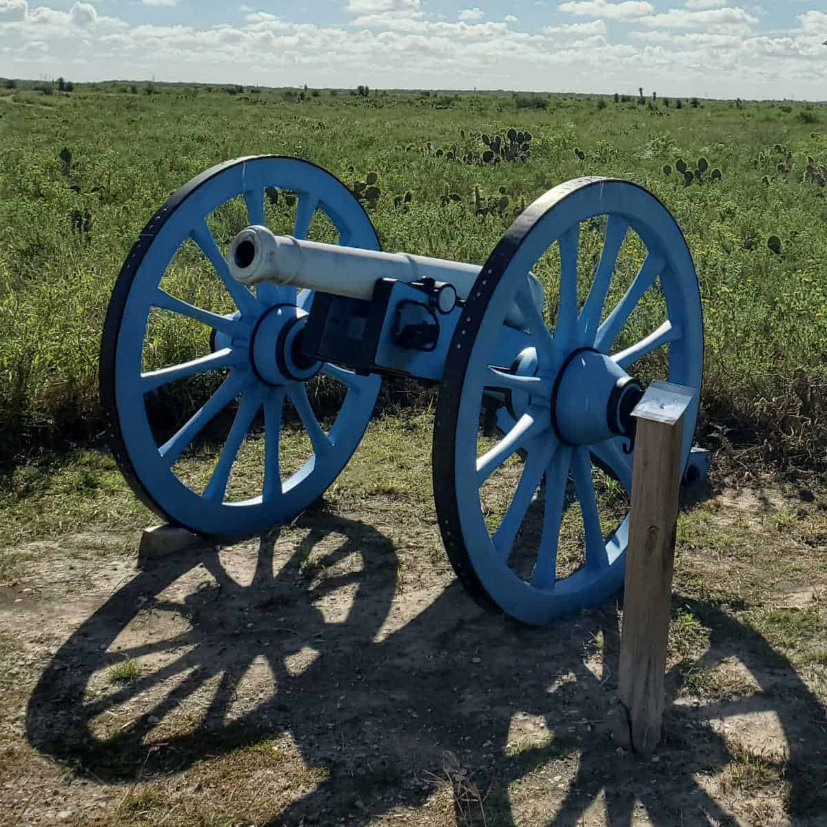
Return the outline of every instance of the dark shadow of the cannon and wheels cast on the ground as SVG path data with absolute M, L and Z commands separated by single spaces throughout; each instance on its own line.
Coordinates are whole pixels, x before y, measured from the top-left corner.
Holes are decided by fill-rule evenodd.
M 316 513 L 299 525 L 299 543 L 276 535 L 139 571 L 45 669 L 30 743 L 97 782 L 131 784 L 289 734 L 325 772 L 274 827 L 366 824 L 438 791 L 450 791 L 457 824 L 594 813 L 631 825 L 643 805 L 671 827 L 735 823 L 698 782 L 733 760 L 710 721 L 772 712 L 788 743 L 788 810 L 823 811 L 825 711 L 784 657 L 719 609 L 684 601 L 712 629 L 694 668 L 737 654 L 758 688 L 672 705 L 658 761 L 646 762 L 610 739 L 614 604 L 520 627 L 456 584 L 399 594 L 398 554 L 365 523 Z M 140 674 L 107 682 L 127 658 Z M 691 668 L 668 676 L 672 699 Z

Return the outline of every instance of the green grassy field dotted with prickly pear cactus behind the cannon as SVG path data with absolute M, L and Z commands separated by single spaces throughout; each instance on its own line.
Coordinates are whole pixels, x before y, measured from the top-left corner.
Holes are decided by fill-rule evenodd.
M 738 443 L 748 458 L 810 466 L 827 459 L 827 107 L 135 91 L 123 84 L 63 94 L 3 90 L 0 416 L 7 453 L 99 432 L 103 316 L 141 228 L 208 166 L 275 153 L 313 160 L 349 185 L 375 172 L 380 193 L 368 209 L 386 250 L 476 263 L 515 209 L 555 184 L 584 174 L 643 184 L 675 215 L 695 256 L 708 437 Z M 538 100 L 546 108 L 536 108 Z M 531 133 L 530 158 L 481 163 L 480 133 L 509 127 Z M 455 146 L 459 160 L 447 156 Z M 475 163 L 462 163 L 467 153 Z M 690 171 L 705 161 L 700 180 L 685 185 L 675 169 L 681 159 Z M 407 193 L 408 206 L 394 204 Z M 484 215 L 476 214 L 480 204 Z M 229 237 L 232 211 L 221 220 Z M 190 345 L 180 327 L 155 332 L 159 358 L 181 361 Z

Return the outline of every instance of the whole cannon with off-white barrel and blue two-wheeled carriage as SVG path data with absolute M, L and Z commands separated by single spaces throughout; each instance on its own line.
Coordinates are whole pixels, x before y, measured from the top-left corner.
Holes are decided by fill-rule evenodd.
M 294 199 L 292 227 L 281 234 L 265 217 L 268 198 L 279 192 Z M 208 217 L 230 202 L 246 215 L 222 246 Z M 329 238 L 308 241 L 318 216 Z M 587 274 L 581 227 L 591 236 L 597 228 L 602 248 Z M 629 235 L 639 266 L 618 292 L 616 261 Z M 165 270 L 184 245 L 211 265 L 232 300 L 228 312 L 164 288 Z M 543 280 L 552 246 L 557 275 Z M 629 342 L 621 334 L 644 299 L 651 329 Z M 169 324 L 206 326 L 205 352 L 147 369 L 148 320 L 156 313 Z M 691 254 L 667 208 L 637 184 L 581 178 L 549 190 L 516 216 L 480 267 L 380 251 L 347 186 L 307 161 L 267 155 L 198 175 L 141 232 L 108 308 L 100 392 L 112 451 L 136 495 L 169 523 L 224 541 L 289 523 L 332 485 L 365 433 L 383 375 L 437 385 L 433 493 L 452 566 L 483 605 L 546 624 L 623 586 L 628 513 L 600 513 L 593 474 L 629 492 L 631 412 L 643 393 L 634 370 L 657 354 L 662 375 L 644 380 L 700 388 L 703 318 Z M 208 373 L 220 385 L 174 433 L 160 433 L 150 400 Z M 326 427 L 308 397 L 319 376 L 342 387 Z M 290 473 L 280 469 L 285 400 L 312 447 Z M 195 484 L 179 460 L 227 411 L 232 426 L 212 474 Z M 696 415 L 697 399 L 686 414 L 685 466 Z M 227 480 L 255 428 L 264 444 L 261 490 L 234 499 Z M 507 490 L 498 483 L 506 503 L 493 519 L 481 491 L 506 463 L 516 470 Z M 559 538 L 575 503 L 582 553 L 566 570 Z M 518 564 L 518 536 L 540 506 L 535 530 L 521 535 Z

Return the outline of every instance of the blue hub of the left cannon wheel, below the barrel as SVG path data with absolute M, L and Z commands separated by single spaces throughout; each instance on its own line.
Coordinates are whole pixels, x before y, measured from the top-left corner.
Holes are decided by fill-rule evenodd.
M 313 379 L 322 363 L 302 350 L 308 313 L 294 304 L 276 304 L 256 323 L 250 341 L 250 361 L 266 385 L 306 382 Z

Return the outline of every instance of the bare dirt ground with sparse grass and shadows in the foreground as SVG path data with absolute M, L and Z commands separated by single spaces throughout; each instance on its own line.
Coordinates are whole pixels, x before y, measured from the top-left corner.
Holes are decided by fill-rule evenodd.
M 134 529 L 24 543 L 0 824 L 827 825 L 820 495 L 687 497 L 649 760 L 610 736 L 619 602 L 490 614 L 403 505 L 333 492 L 155 559 Z

